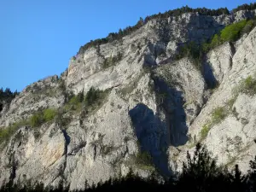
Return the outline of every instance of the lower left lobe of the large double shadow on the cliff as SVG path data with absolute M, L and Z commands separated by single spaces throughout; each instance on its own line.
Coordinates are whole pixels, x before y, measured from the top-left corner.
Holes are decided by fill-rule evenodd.
M 140 144 L 140 151 L 148 152 L 153 158 L 154 166 L 164 176 L 170 177 L 166 154 L 168 143 L 164 129 L 165 122 L 143 103 L 138 103 L 135 108 L 132 108 L 129 115 Z

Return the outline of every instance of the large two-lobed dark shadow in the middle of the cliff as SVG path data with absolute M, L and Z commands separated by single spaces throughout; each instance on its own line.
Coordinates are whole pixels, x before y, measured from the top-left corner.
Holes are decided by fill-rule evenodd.
M 129 111 L 141 151 L 153 157 L 154 165 L 168 177 L 169 168 L 167 150 L 188 142 L 188 126 L 183 109 L 182 91 L 172 89 L 165 81 L 154 77 L 156 93 L 156 113 L 143 103 L 138 103 Z

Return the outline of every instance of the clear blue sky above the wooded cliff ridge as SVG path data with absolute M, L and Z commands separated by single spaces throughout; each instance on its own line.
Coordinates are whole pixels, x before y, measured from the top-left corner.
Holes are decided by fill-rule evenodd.
M 0 0 L 0 87 L 23 90 L 60 74 L 79 47 L 140 17 L 185 5 L 236 8 L 245 0 Z

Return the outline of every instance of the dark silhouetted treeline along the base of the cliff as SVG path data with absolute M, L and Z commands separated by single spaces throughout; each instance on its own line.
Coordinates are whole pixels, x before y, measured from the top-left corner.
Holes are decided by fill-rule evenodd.
M 58 189 L 51 189 L 44 188 L 44 185 L 39 183 L 32 187 L 28 183 L 18 186 L 10 182 L 0 191 L 68 191 L 68 189 L 69 186 L 63 188 L 61 184 Z M 187 154 L 187 162 L 183 162 L 182 172 L 166 181 L 160 182 L 155 174 L 143 179 L 130 171 L 126 177 L 110 178 L 104 183 L 93 183 L 91 186 L 84 181 L 84 189 L 75 191 L 256 191 L 256 156 L 250 161 L 250 170 L 243 175 L 237 165 L 231 171 L 225 166 L 218 166 L 207 148 L 198 143 L 194 154 Z

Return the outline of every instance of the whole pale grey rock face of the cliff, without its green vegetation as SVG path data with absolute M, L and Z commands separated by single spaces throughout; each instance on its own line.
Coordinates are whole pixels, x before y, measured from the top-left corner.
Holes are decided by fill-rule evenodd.
M 186 151 L 198 141 L 219 164 L 238 163 L 247 172 L 256 154 L 256 96 L 234 96 L 233 90 L 256 72 L 256 28 L 237 42 L 209 51 L 203 73 L 194 61 L 177 61 L 175 55 L 181 45 L 203 42 L 253 15 L 255 11 L 239 11 L 150 20 L 120 41 L 86 49 L 70 60 L 60 78 L 27 86 L 3 107 L 0 127 L 29 119 L 44 108 L 59 108 L 61 118 L 57 115 L 36 128 L 21 125 L 0 144 L 0 185 L 13 180 L 84 189 L 85 180 L 91 184 L 119 177 L 129 167 L 142 177 L 156 169 L 169 177 L 180 170 Z M 100 104 L 69 108 L 70 92 L 86 94 L 92 86 L 104 92 Z M 216 108 L 228 112 L 207 126 Z M 152 156 L 154 166 L 137 160 L 143 153 Z

